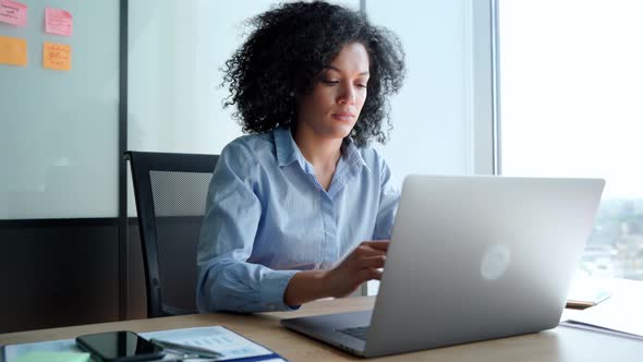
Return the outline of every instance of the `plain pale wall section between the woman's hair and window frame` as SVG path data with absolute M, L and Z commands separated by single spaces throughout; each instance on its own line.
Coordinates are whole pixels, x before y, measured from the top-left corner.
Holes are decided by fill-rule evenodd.
M 393 173 L 471 173 L 468 1 L 367 1 L 372 21 L 396 32 L 409 68 L 381 147 Z

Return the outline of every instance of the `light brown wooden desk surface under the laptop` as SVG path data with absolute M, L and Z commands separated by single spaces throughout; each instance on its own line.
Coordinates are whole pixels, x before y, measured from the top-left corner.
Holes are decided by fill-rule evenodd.
M 349 361 L 354 358 L 332 347 L 290 331 L 279 324 L 282 317 L 361 311 L 373 306 L 373 297 L 318 301 L 296 312 L 256 315 L 198 314 L 153 319 L 93 324 L 0 335 L 0 345 L 74 338 L 82 334 L 131 329 L 149 331 L 222 325 L 248 337 L 291 361 Z M 463 326 L 465 327 L 465 326 Z M 439 348 L 376 359 L 377 361 L 642 361 L 643 341 L 581 329 L 557 327 L 538 334 L 477 343 Z

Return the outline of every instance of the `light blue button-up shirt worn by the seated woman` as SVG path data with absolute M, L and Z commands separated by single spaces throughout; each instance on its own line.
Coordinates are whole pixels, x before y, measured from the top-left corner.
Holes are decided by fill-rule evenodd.
M 332 268 L 360 242 L 390 238 L 399 196 L 384 158 L 349 138 L 328 191 L 289 128 L 236 138 L 207 196 L 198 310 L 290 310 L 283 292 L 295 273 Z

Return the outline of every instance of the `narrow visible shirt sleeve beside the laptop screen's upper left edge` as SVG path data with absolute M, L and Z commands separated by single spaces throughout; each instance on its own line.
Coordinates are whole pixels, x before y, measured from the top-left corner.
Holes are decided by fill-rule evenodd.
M 373 240 L 389 240 L 400 201 L 400 188 L 385 159 L 378 153 L 376 155 L 378 156 L 380 189 L 379 209 L 373 231 Z

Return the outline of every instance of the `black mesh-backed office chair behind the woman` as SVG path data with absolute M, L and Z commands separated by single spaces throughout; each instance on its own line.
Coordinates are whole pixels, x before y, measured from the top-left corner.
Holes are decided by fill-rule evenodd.
M 196 251 L 218 155 L 126 152 L 138 213 L 147 316 L 197 313 Z

